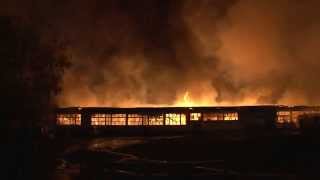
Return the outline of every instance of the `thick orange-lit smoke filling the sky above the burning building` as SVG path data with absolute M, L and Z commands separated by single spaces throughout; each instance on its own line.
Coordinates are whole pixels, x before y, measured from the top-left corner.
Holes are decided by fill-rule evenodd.
M 61 106 L 319 104 L 317 0 L 8 0 L 68 45 Z

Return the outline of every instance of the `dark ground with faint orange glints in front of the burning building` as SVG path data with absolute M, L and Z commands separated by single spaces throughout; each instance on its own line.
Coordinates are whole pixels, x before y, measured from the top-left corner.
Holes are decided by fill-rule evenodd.
M 32 179 L 320 179 L 320 143 L 299 134 L 60 137 L 30 159 Z

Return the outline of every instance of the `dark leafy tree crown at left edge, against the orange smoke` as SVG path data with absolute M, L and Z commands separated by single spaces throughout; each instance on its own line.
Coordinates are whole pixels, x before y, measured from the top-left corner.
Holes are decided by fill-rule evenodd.
M 1 116 L 5 127 L 34 127 L 54 107 L 68 63 L 60 44 L 17 21 L 0 18 Z

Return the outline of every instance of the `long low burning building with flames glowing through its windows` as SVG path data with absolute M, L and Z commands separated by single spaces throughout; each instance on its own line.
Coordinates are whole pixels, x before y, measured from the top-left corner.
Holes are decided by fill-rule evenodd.
M 243 128 L 299 128 L 299 118 L 318 114 L 315 106 L 60 108 L 58 129 L 89 132 L 214 131 Z

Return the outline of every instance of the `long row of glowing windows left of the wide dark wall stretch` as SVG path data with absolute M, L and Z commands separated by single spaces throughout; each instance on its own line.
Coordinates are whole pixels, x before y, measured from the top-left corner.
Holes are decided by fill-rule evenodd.
M 163 114 L 93 114 L 91 116 L 91 125 L 186 125 L 187 118 L 183 113 L 166 113 Z M 238 120 L 238 113 L 191 113 L 192 121 L 228 121 Z M 80 125 L 80 114 L 58 114 L 57 123 L 59 125 Z

